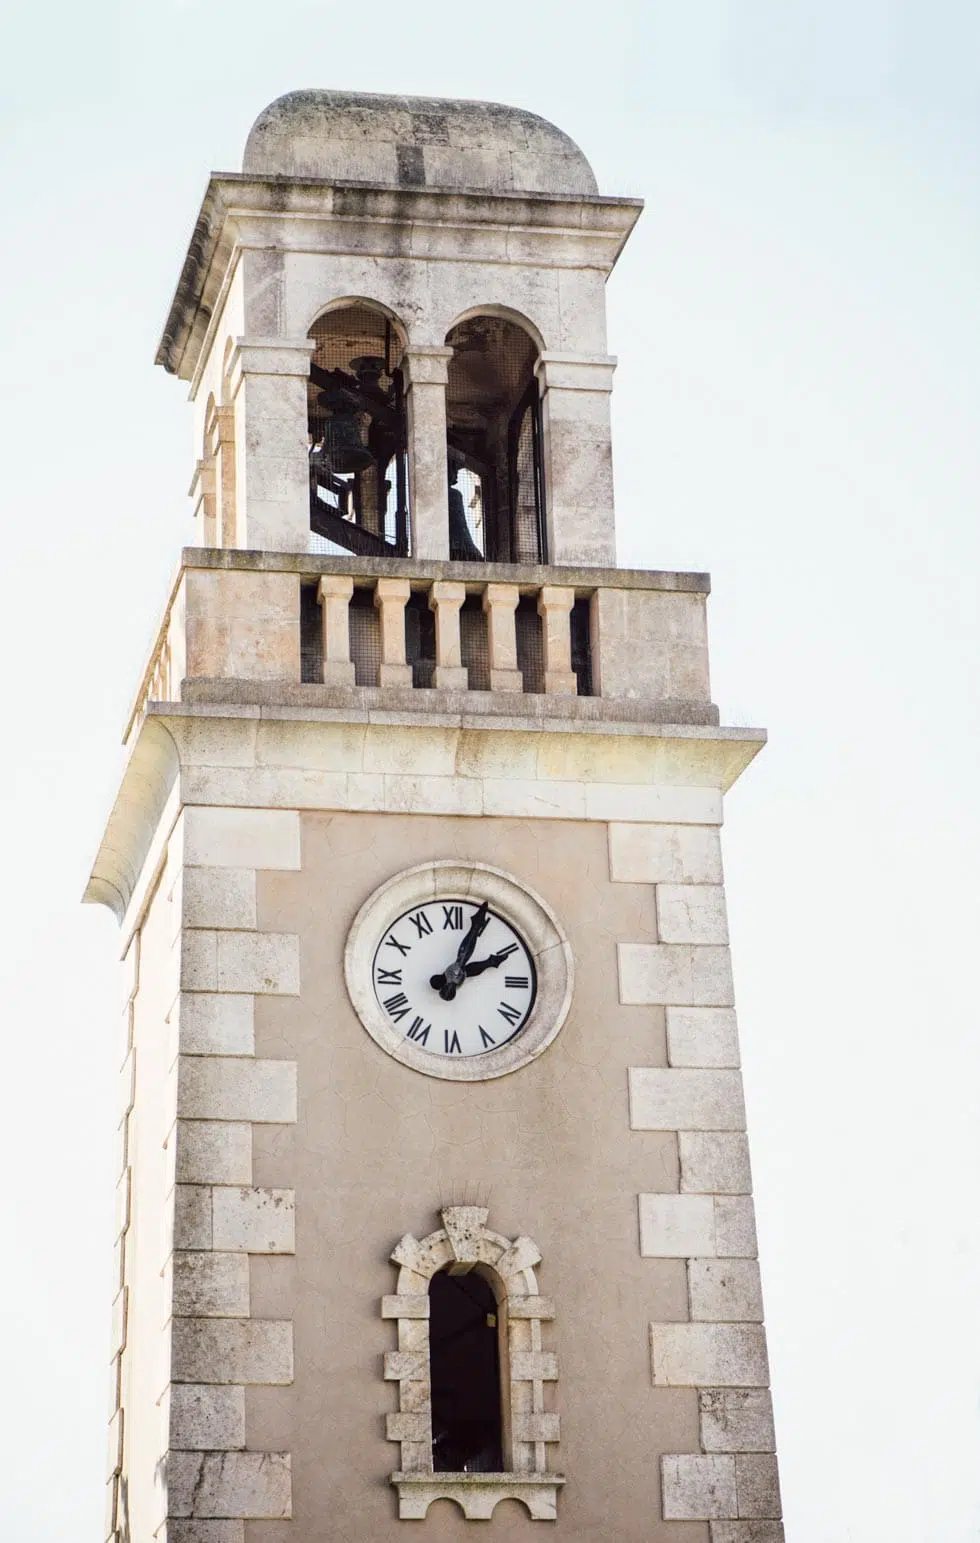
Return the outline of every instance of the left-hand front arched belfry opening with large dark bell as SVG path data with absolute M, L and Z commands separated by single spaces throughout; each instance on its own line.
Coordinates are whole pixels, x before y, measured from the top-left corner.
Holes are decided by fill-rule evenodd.
M 409 554 L 403 338 L 380 310 L 341 306 L 310 327 L 307 386 L 313 548 Z

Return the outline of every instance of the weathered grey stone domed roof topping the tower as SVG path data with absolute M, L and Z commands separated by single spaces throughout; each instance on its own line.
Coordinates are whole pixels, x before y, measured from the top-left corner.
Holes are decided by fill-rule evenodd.
M 497 102 L 290 91 L 259 113 L 242 171 L 398 188 L 596 194 L 579 147 Z

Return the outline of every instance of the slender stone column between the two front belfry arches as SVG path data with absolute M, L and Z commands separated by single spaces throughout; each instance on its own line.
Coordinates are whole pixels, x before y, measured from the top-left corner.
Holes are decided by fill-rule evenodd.
M 449 557 L 446 381 L 452 349 L 406 349 L 412 557 Z

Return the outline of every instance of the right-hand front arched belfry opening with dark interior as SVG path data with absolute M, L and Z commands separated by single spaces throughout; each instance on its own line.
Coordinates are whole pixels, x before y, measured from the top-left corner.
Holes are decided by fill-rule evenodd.
M 545 486 L 537 347 L 517 322 L 478 315 L 446 336 L 449 555 L 542 563 Z

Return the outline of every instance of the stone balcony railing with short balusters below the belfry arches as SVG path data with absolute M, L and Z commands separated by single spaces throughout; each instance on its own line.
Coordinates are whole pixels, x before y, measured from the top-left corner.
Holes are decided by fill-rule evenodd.
M 713 724 L 707 593 L 704 574 L 187 548 L 127 738 L 151 701 L 406 707 L 420 688 L 435 710 L 608 716 L 597 697 Z

